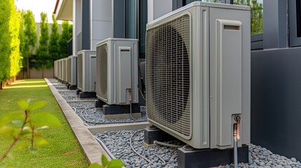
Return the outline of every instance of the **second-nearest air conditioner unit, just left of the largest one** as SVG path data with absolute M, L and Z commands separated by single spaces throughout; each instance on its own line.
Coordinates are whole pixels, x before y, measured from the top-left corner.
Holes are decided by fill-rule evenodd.
M 97 97 L 109 105 L 130 104 L 131 93 L 138 103 L 138 40 L 107 38 L 96 50 Z

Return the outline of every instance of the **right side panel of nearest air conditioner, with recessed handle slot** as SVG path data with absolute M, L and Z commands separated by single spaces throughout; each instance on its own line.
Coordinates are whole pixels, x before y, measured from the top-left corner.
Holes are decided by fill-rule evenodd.
M 210 148 L 233 146 L 239 113 L 241 146 L 250 143 L 250 11 L 210 8 Z

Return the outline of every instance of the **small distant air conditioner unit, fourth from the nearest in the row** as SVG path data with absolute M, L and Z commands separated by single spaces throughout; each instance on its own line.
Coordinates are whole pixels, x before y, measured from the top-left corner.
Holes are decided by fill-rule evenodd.
M 77 56 L 71 55 L 67 59 L 67 83 L 69 85 L 76 85 L 76 58 Z

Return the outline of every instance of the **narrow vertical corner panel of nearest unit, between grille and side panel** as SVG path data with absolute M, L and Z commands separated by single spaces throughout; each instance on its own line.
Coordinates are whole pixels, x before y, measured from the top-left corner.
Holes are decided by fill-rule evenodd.
M 209 148 L 209 8 L 192 10 L 192 140 L 198 148 Z M 194 14 L 195 13 L 195 14 Z

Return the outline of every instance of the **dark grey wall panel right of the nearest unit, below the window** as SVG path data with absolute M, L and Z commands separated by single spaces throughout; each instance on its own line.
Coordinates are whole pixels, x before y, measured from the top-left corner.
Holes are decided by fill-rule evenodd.
M 251 143 L 301 160 L 301 48 L 251 52 Z

